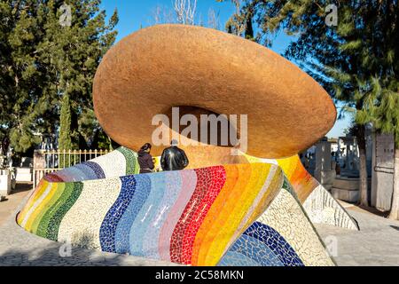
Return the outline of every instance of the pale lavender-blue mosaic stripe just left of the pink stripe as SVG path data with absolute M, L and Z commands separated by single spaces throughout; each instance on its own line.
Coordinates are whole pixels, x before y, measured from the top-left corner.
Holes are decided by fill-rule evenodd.
M 168 217 L 172 204 L 175 204 L 179 193 L 181 193 L 181 187 L 182 176 L 179 171 L 165 172 L 165 194 L 163 194 L 162 201 L 160 201 L 160 205 L 150 221 L 152 225 L 148 226 L 145 232 L 145 235 L 152 237 L 143 240 L 143 252 L 146 257 L 160 259 L 158 245 L 154 246 L 154 243 L 158 244 L 160 241 L 160 229 Z

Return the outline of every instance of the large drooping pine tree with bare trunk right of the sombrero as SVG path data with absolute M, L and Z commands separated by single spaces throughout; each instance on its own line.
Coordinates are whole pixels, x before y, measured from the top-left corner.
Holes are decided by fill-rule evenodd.
M 331 12 L 326 9 L 329 4 L 337 8 L 336 26 L 326 22 Z M 387 95 L 383 94 L 389 93 L 391 101 L 398 96 L 397 1 L 248 0 L 241 13 L 248 12 L 253 12 L 259 28 L 257 42 L 270 46 L 281 30 L 295 36 L 286 49 L 286 58 L 295 59 L 334 99 L 343 101 L 343 111 L 355 114 L 360 202 L 368 205 L 364 124 L 374 122 L 377 130 L 384 130 L 385 125 L 390 133 L 398 127 L 395 111 L 379 123 L 384 121 L 381 115 L 386 109 Z M 380 90 L 375 88 L 376 82 Z

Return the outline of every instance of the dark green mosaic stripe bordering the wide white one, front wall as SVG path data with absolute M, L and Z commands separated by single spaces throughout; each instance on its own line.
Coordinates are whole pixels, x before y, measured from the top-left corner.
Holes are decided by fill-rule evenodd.
M 74 202 L 76 202 L 81 195 L 82 188 L 82 182 L 66 183 L 65 196 L 67 195 L 67 199 L 60 198 L 60 200 L 64 202 L 62 202 L 57 212 L 51 217 L 45 236 L 46 239 L 58 241 L 59 225 L 66 215 L 66 212 L 74 206 Z M 62 194 L 62 196 L 64 196 L 64 194 Z

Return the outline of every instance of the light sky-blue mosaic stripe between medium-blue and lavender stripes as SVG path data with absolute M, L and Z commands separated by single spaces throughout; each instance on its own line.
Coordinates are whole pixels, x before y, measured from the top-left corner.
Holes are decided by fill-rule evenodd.
M 151 193 L 148 195 L 143 208 L 138 212 L 129 233 L 130 254 L 134 256 L 145 256 L 143 251 L 143 240 L 154 236 L 146 235 L 145 232 L 155 216 L 160 206 L 163 194 L 165 192 L 166 172 L 160 172 L 156 175 L 146 174 L 151 178 Z

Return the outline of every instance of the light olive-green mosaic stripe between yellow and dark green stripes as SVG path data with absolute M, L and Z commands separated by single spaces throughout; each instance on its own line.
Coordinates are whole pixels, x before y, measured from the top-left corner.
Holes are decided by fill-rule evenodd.
M 66 187 L 69 186 L 72 188 L 72 184 L 65 184 L 65 183 L 58 183 L 57 184 L 57 191 L 54 194 L 51 203 L 49 203 L 49 209 L 46 210 L 44 212 L 44 215 L 42 217 L 39 223 L 39 225 L 37 226 L 37 230 L 36 230 L 36 234 L 38 236 L 41 236 L 43 238 L 46 237 L 46 232 L 48 230 L 49 227 L 49 223 L 51 221 L 51 217 L 54 216 L 54 214 L 57 212 L 57 210 L 61 207 L 61 205 L 64 203 L 64 201 L 66 201 L 66 199 L 68 198 L 70 191 L 68 193 L 66 193 Z

